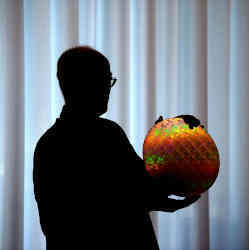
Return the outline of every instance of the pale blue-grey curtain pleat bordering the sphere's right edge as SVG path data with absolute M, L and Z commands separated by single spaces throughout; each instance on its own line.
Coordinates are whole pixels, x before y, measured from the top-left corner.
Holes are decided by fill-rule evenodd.
M 208 1 L 207 128 L 215 139 L 221 163 L 216 182 L 209 190 L 213 250 L 229 249 L 229 20 L 229 1 Z

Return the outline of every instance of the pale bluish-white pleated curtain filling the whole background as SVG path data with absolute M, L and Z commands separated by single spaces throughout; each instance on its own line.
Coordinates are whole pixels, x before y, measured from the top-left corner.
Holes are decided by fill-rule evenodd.
M 45 249 L 33 152 L 63 105 L 57 59 L 78 44 L 110 60 L 102 117 L 141 157 L 159 115 L 195 115 L 219 149 L 198 202 L 151 214 L 160 249 L 249 249 L 248 24 L 248 0 L 0 0 L 0 249 Z

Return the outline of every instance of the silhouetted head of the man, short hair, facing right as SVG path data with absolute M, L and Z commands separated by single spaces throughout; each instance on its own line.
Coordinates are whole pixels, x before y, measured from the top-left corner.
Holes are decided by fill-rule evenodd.
M 86 113 L 107 111 L 112 74 L 108 59 L 89 46 L 66 50 L 57 63 L 65 103 Z

